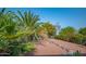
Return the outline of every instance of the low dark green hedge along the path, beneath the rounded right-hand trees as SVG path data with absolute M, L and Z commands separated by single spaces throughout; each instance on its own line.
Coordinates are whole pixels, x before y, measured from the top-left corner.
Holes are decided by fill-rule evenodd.
M 57 35 L 54 38 L 86 46 L 86 36 L 83 36 L 82 34 L 76 34 L 71 37 L 69 37 L 67 35 Z

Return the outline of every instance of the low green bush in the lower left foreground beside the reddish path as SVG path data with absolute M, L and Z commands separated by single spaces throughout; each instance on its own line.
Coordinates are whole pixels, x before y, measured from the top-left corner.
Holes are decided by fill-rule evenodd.
M 19 42 L 13 42 L 10 43 L 9 47 L 9 53 L 10 55 L 16 56 L 16 55 L 23 55 L 26 52 L 32 52 L 35 50 L 34 43 L 28 42 L 28 43 L 19 43 Z

